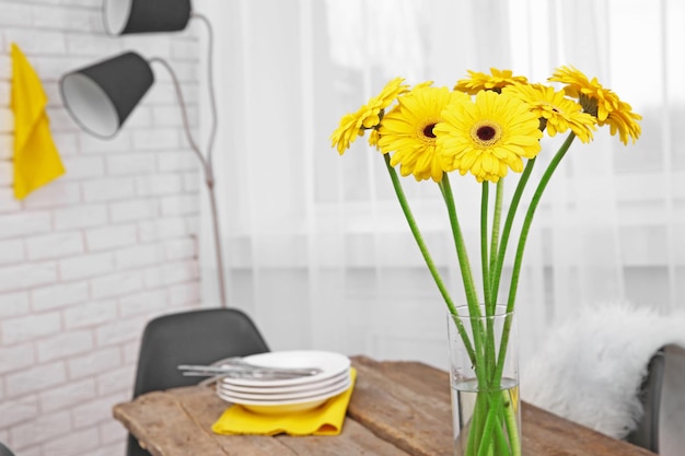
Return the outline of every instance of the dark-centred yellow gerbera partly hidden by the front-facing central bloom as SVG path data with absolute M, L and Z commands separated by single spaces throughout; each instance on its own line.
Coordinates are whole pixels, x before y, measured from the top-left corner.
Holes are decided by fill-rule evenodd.
M 383 153 L 393 152 L 391 165 L 399 164 L 399 174 L 440 182 L 443 172 L 453 169 L 436 154 L 433 127 L 442 121 L 444 107 L 462 97 L 468 95 L 422 84 L 399 97 L 397 106 L 383 117 L 378 145 Z

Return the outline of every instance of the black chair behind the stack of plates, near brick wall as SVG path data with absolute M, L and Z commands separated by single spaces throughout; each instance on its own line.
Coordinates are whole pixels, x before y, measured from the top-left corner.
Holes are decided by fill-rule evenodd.
M 269 351 L 253 320 L 236 308 L 210 308 L 163 315 L 142 335 L 133 398 L 144 393 L 195 385 L 178 364 L 211 364 L 229 356 Z M 128 456 L 150 456 L 129 435 Z M 1 455 L 0 456 L 4 456 Z

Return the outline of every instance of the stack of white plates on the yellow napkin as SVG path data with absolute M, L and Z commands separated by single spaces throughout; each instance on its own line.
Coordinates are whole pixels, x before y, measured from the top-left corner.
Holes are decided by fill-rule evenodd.
M 217 383 L 220 398 L 240 404 L 256 413 L 310 410 L 350 387 L 350 360 L 339 353 L 313 350 L 274 351 L 245 356 L 244 361 L 264 367 L 321 370 L 320 373 L 305 377 L 224 377 Z

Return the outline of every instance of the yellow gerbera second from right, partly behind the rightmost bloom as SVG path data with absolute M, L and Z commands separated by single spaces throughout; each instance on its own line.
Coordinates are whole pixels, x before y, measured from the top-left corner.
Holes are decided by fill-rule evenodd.
M 550 137 L 570 128 L 582 142 L 590 142 L 592 139 L 596 119 L 583 113 L 582 107 L 567 98 L 564 91 L 555 91 L 554 87 L 543 84 L 513 84 L 502 89 L 502 93 L 527 103 L 529 108 L 541 119 L 541 129 Z

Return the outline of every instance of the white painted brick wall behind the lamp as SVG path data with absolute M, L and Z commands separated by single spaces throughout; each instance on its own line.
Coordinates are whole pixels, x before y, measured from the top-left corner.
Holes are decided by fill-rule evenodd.
M 104 141 L 65 110 L 61 74 L 124 50 L 177 70 L 197 128 L 196 27 L 109 37 L 102 0 L 0 0 L 0 441 L 18 456 L 123 456 L 112 407 L 130 397 L 144 324 L 200 306 L 199 164 L 171 80 Z M 43 82 L 66 175 L 16 201 L 10 46 Z

